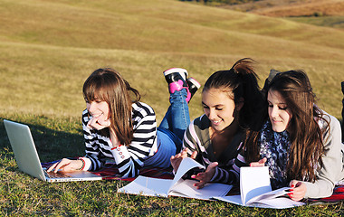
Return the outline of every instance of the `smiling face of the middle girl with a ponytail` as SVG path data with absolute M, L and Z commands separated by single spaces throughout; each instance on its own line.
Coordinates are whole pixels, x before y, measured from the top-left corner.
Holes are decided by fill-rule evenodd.
M 202 93 L 202 105 L 211 127 L 216 131 L 224 130 L 234 121 L 235 103 L 228 93 L 219 89 L 205 90 Z

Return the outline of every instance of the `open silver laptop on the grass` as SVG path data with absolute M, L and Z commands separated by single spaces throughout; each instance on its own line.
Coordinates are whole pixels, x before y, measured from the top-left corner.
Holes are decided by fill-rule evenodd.
M 14 151 L 15 161 L 21 171 L 46 182 L 72 182 L 101 180 L 102 177 L 88 171 L 47 173 L 41 165 L 27 125 L 4 119 L 7 136 Z

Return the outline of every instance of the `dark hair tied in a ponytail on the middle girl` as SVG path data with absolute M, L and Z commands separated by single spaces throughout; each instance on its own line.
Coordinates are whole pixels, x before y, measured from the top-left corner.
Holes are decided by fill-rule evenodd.
M 244 106 L 239 112 L 239 123 L 244 128 L 254 128 L 256 114 L 263 109 L 263 95 L 258 76 L 253 71 L 253 62 L 250 58 L 244 58 L 236 61 L 230 70 L 215 71 L 203 88 L 203 91 L 224 90 L 235 104 L 244 99 Z

